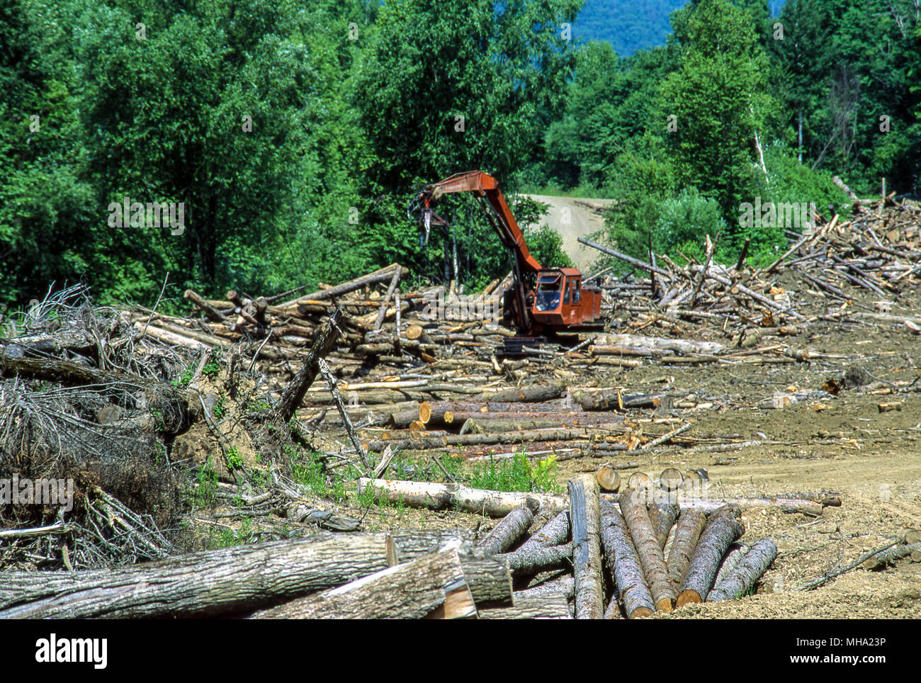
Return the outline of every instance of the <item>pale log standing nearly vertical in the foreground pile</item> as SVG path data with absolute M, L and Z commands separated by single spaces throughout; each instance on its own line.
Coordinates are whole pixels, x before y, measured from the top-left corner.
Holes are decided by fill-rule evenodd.
M 576 619 L 604 616 L 601 581 L 600 497 L 598 482 L 589 474 L 569 480 L 569 519 L 576 574 Z

